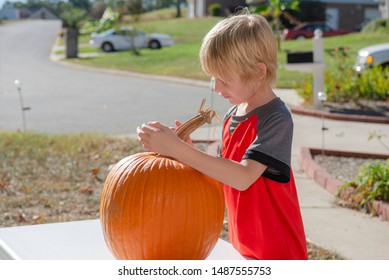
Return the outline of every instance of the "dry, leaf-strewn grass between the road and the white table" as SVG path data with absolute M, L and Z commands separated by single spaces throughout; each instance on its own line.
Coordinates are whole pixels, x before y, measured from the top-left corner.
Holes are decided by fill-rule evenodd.
M 0 227 L 95 219 L 110 167 L 134 139 L 0 132 Z M 221 237 L 228 240 L 227 225 Z M 341 259 L 308 243 L 310 259 Z

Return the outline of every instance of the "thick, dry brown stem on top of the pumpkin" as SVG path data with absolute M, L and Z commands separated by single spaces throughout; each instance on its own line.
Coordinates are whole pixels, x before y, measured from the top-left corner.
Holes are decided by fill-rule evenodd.
M 198 109 L 198 114 L 181 124 L 176 129 L 175 133 L 181 140 L 185 141 L 189 137 L 189 135 L 192 134 L 193 131 L 198 129 L 203 124 L 211 123 L 213 117 L 216 117 L 219 120 L 219 117 L 216 112 L 210 108 L 203 109 L 204 105 L 205 99 L 201 101 L 200 108 Z

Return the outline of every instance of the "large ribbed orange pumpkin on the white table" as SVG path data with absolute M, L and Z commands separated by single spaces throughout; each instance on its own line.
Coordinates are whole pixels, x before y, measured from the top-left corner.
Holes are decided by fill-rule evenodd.
M 205 259 L 223 219 L 221 184 L 172 158 L 126 157 L 104 184 L 100 220 L 117 259 Z

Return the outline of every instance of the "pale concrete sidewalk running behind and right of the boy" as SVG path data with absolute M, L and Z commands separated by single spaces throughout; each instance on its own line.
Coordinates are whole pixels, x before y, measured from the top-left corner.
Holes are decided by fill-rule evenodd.
M 288 107 L 300 105 L 301 99 L 294 90 L 275 91 Z M 298 162 L 302 147 L 322 148 L 323 120 L 296 114 L 293 114 L 293 120 L 292 167 L 307 238 L 346 259 L 389 259 L 389 222 L 336 205 L 335 197 L 310 179 Z M 324 135 L 325 149 L 376 154 L 387 152 L 379 143 L 368 141 L 368 136 L 372 131 L 389 135 L 389 125 L 327 119 L 324 125 L 328 128 Z M 220 126 L 200 129 L 193 136 L 195 139 L 212 139 L 213 133 L 215 138 L 221 135 Z

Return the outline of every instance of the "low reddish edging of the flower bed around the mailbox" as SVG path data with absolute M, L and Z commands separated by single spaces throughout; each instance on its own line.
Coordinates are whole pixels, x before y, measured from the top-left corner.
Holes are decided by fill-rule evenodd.
M 320 117 L 320 118 L 331 119 L 331 120 L 389 124 L 389 118 L 387 117 L 330 113 L 330 112 L 319 111 L 314 109 L 305 109 L 300 107 L 292 107 L 291 111 L 292 113 L 297 115 Z

